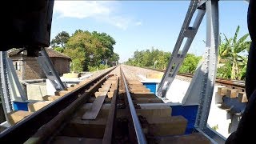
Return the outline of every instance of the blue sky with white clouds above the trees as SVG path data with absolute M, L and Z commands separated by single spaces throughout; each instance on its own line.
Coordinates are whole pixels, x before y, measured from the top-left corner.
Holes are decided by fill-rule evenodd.
M 247 34 L 248 3 L 220 1 L 219 32 L 228 38 L 240 26 L 238 38 Z M 61 1 L 55 0 L 50 38 L 62 31 L 98 31 L 116 41 L 114 52 L 119 62 L 132 58 L 134 51 L 152 47 L 172 52 L 190 1 Z M 206 15 L 190 46 L 189 53 L 202 55 L 205 50 Z

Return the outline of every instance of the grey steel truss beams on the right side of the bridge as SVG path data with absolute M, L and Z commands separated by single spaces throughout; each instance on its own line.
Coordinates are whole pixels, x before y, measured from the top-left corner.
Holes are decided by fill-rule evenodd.
M 247 1 L 248 2 L 248 1 Z M 195 12 L 194 23 L 190 26 Z M 210 112 L 210 104 L 214 92 L 214 83 L 217 72 L 219 22 L 218 22 L 218 0 L 191 0 L 186 13 L 178 40 L 174 46 L 165 74 L 158 85 L 158 97 L 166 99 L 166 92 L 169 90 L 180 66 L 184 61 L 187 51 L 197 34 L 206 14 L 206 51 L 203 54 L 202 62 L 199 62 L 190 86 L 182 99 L 182 105 L 198 105 L 198 113 L 195 122 L 196 130 L 205 134 L 212 142 L 225 143 L 226 138 L 207 126 Z M 186 41 L 181 49 L 182 42 Z

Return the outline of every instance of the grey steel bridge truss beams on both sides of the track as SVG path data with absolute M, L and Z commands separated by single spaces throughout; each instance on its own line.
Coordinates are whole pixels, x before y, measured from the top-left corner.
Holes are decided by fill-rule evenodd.
M 194 23 L 190 26 L 195 12 L 198 12 L 194 18 Z M 219 38 L 219 23 L 218 23 L 218 0 L 191 0 L 186 18 L 182 25 L 182 30 L 178 36 L 178 40 L 174 46 L 173 53 L 163 75 L 162 81 L 158 86 L 158 96 L 165 98 L 166 92 L 174 81 L 178 70 L 186 57 L 191 43 L 197 34 L 198 28 L 202 23 L 202 18 L 206 14 L 206 52 L 203 55 L 203 62 L 198 65 L 198 68 L 190 82 L 189 89 L 183 98 L 183 105 L 198 105 L 198 114 L 195 122 L 196 130 L 205 134 L 206 137 L 212 139 L 213 142 L 224 143 L 226 138 L 211 130 L 207 126 L 207 118 L 210 111 L 210 103 L 214 91 L 214 82 L 216 78 L 216 67 L 218 59 L 218 38 Z M 182 42 L 186 41 L 182 50 Z M 50 61 L 46 50 L 42 48 L 41 56 L 38 57 L 38 62 L 42 66 L 47 78 L 53 83 L 56 90 L 64 90 L 58 73 L 54 70 L 53 64 Z M 0 95 L 2 98 L 3 109 L 5 114 L 14 110 L 10 93 L 12 86 L 18 86 L 19 93 L 22 95 L 22 101 L 26 100 L 21 86 L 19 86 L 17 75 L 14 71 L 12 62 L 8 60 L 6 51 L 0 52 Z M 12 80 L 13 79 L 13 80 Z

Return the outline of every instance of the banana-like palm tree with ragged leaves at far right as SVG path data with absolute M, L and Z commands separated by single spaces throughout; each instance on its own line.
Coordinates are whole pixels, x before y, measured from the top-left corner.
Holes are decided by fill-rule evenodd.
M 226 38 L 226 44 L 223 46 L 224 49 L 226 49 L 226 53 L 224 50 L 224 54 L 226 55 L 226 58 L 230 59 L 232 62 L 232 70 L 231 70 L 231 79 L 238 79 L 239 78 L 239 65 L 240 62 L 244 59 L 241 55 L 242 52 L 245 52 L 250 47 L 250 41 L 246 41 L 246 38 L 248 38 L 249 34 L 243 35 L 241 38 L 238 39 L 238 32 L 240 30 L 240 26 L 237 27 L 237 30 L 234 34 L 234 38 Z M 237 40 L 238 39 L 238 40 Z

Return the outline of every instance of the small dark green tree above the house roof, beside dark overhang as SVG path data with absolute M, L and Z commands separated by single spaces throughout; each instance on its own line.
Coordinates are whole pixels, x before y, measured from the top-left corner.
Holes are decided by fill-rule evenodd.
M 62 48 L 66 48 L 66 42 L 69 40 L 69 38 L 70 34 L 68 34 L 66 31 L 62 31 L 51 40 L 50 45 L 52 47 L 60 46 Z

